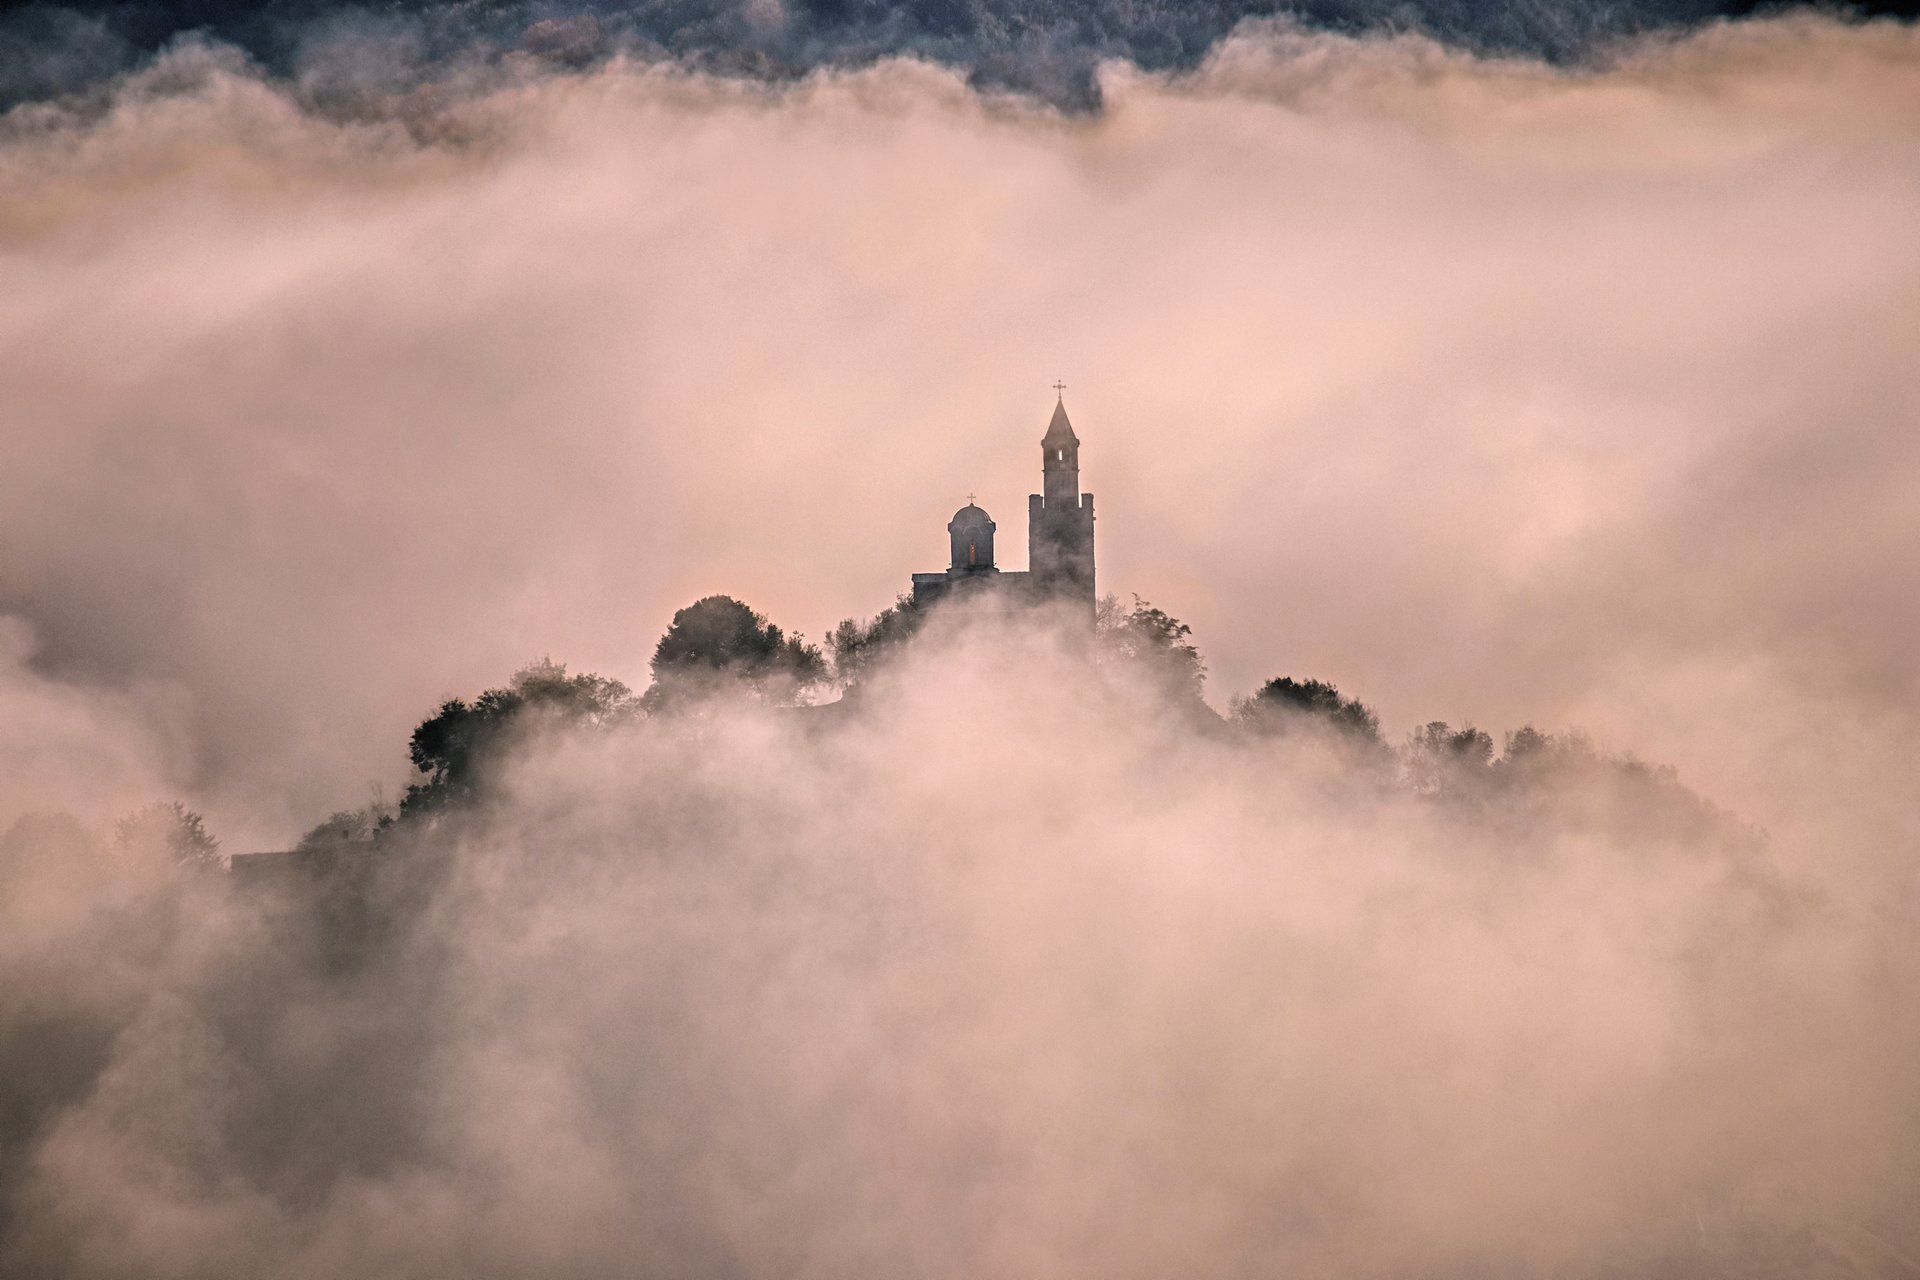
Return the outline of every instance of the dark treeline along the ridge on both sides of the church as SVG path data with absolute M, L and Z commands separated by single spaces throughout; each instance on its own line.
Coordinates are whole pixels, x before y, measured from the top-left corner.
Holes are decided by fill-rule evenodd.
M 374 800 L 340 810 L 307 831 L 296 852 L 326 858 L 413 846 L 417 833 L 484 810 L 513 752 L 553 735 L 643 731 L 649 722 L 697 722 L 735 704 L 789 708 L 822 723 L 833 716 L 885 714 L 883 706 L 870 706 L 866 691 L 885 679 L 924 624 L 924 612 L 902 595 L 876 618 L 841 622 L 822 649 L 741 601 L 705 597 L 674 614 L 655 647 L 651 683 L 639 695 L 618 679 L 568 674 L 564 664 L 541 658 L 472 700 L 449 699 L 407 743 L 417 777 L 399 804 Z M 1634 821 L 1657 816 L 1690 839 L 1713 831 L 1736 842 L 1759 839 L 1688 791 L 1674 770 L 1601 752 L 1580 731 L 1523 725 L 1496 745 L 1484 729 L 1434 720 L 1390 743 L 1371 706 L 1332 683 L 1294 676 L 1277 676 L 1233 699 L 1223 716 L 1204 699 L 1206 662 L 1192 628 L 1140 597 L 1131 604 L 1112 595 L 1098 603 L 1085 660 L 1094 672 L 1148 689 L 1154 704 L 1187 731 L 1246 750 L 1275 743 L 1311 747 L 1319 758 L 1336 762 L 1344 785 L 1365 783 L 1455 808 L 1501 804 L 1524 812 L 1532 793 L 1563 794 L 1578 783 L 1590 816 L 1601 810 L 1613 821 L 1628 814 Z M 27 848 L 152 865 L 225 864 L 202 816 L 179 800 L 156 800 L 127 816 L 108 841 L 67 814 L 25 814 L 0 837 L 0 858 L 25 856 Z

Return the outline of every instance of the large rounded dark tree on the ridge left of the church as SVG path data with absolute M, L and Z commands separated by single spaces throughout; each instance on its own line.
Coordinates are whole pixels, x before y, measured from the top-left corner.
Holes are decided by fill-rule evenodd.
M 708 595 L 674 614 L 653 649 L 649 712 L 724 695 L 791 706 L 828 676 L 820 649 L 787 635 L 730 595 Z

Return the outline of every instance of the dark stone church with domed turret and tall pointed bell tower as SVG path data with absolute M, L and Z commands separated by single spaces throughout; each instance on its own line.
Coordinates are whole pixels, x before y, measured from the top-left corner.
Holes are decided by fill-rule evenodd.
M 968 501 L 947 522 L 952 562 L 943 574 L 914 574 L 914 604 L 973 599 L 1016 608 L 1064 603 L 1092 618 L 1092 493 L 1079 491 L 1079 436 L 1066 395 L 1041 438 L 1041 491 L 1027 497 L 1027 568 L 993 560 L 993 516 Z

